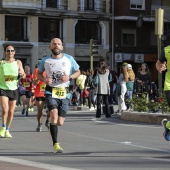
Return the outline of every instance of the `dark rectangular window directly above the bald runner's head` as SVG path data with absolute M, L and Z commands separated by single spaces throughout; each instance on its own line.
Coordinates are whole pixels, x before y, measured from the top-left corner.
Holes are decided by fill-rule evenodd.
M 63 37 L 63 22 L 59 19 L 39 18 L 39 42 L 50 42 Z

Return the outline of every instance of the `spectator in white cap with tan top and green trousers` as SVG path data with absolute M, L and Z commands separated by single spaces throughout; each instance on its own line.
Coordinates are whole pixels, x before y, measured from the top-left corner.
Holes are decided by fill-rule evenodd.
M 132 100 L 132 95 L 133 95 L 133 84 L 134 84 L 134 80 L 135 80 L 135 73 L 132 69 L 132 65 L 131 64 L 127 64 L 126 65 L 126 69 L 127 69 L 127 73 L 128 73 L 128 81 L 126 82 L 126 87 L 127 87 L 127 97 L 128 99 Z M 129 111 L 130 108 L 130 103 L 126 104 L 127 106 L 127 111 Z

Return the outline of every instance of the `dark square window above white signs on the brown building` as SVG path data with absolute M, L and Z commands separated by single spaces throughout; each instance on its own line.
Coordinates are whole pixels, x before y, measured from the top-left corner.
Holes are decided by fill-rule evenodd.
M 136 46 L 135 30 L 122 30 L 122 46 Z

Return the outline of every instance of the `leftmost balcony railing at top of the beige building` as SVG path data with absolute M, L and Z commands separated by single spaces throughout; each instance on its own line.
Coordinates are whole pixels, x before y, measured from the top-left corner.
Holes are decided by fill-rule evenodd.
M 2 0 L 2 8 L 40 9 L 41 0 Z

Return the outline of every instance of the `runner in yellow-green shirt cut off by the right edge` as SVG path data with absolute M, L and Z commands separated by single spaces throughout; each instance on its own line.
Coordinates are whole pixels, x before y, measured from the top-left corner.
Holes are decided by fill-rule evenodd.
M 164 47 L 161 51 L 159 59 L 156 62 L 156 69 L 160 72 L 165 73 L 164 81 L 164 93 L 167 99 L 167 103 L 170 106 L 170 46 Z M 161 122 L 164 127 L 163 136 L 167 141 L 170 141 L 170 120 L 163 119 Z

